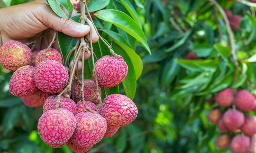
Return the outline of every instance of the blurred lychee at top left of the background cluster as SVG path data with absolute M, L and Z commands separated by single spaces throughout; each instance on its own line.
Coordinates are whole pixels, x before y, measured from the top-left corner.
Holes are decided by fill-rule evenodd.
M 230 107 L 232 105 L 233 99 L 233 92 L 229 88 L 222 90 L 215 96 L 215 102 L 220 107 Z

